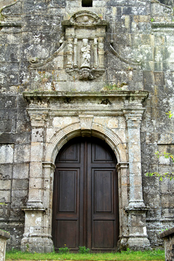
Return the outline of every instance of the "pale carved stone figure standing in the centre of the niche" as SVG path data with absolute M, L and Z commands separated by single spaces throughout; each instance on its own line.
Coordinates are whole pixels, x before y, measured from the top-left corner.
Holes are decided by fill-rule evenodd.
M 81 68 L 90 68 L 90 45 L 88 44 L 88 39 L 83 39 L 81 53 L 82 53 L 82 64 Z

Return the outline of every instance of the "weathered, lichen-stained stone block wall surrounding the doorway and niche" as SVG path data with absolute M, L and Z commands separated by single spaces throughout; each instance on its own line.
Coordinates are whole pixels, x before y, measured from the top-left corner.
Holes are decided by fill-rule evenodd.
M 147 212 L 147 233 L 152 246 L 162 241 L 158 233 L 173 224 L 173 181 L 159 182 L 156 177 L 145 177 L 151 170 L 171 170 L 171 162 L 157 159 L 155 151 L 174 153 L 173 118 L 173 48 L 174 22 L 170 3 L 144 1 L 97 1 L 93 7 L 82 8 L 80 0 L 11 1 L 1 16 L 1 174 L 0 227 L 11 232 L 9 245 L 20 247 L 24 232 L 22 206 L 28 200 L 31 125 L 23 91 L 56 90 L 99 91 L 105 85 L 116 84 L 125 90 L 147 90 L 146 111 L 141 125 L 143 199 Z M 0 1 L 1 7 L 5 2 Z M 6 4 L 10 4 L 7 1 Z M 61 22 L 81 10 L 96 13 L 109 22 L 106 32 L 105 74 L 91 81 L 73 80 L 65 71 L 65 53 L 60 51 L 64 39 Z M 33 67 L 31 58 L 43 66 Z M 35 64 L 35 63 L 33 63 Z M 41 73 L 39 73 L 41 72 Z M 45 73 L 43 73 L 45 72 Z M 122 88 L 122 87 L 121 87 Z M 66 91 L 65 90 L 65 91 Z M 57 130 L 58 119 L 52 122 Z M 49 130 L 49 127 L 48 127 Z M 53 130 L 51 130 L 52 132 Z M 115 132 L 124 130 L 115 129 Z M 47 142 L 44 140 L 44 142 Z

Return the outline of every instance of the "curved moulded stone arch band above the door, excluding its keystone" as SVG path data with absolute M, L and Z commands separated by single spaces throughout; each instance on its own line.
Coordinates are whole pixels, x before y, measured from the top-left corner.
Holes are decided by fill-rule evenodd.
M 113 150 L 118 163 L 128 161 L 125 144 L 112 130 L 99 123 L 92 123 L 90 129 L 82 129 L 80 122 L 76 122 L 58 130 L 52 136 L 46 147 L 45 162 L 54 164 L 56 155 L 60 149 L 71 139 L 80 136 L 93 136 L 105 141 Z

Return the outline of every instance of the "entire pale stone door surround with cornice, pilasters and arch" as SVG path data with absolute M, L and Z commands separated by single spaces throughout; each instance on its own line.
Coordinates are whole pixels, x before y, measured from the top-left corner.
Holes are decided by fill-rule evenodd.
M 64 102 L 69 99 L 67 95 L 24 93 L 31 102 L 28 113 L 32 124 L 32 142 L 29 199 L 23 208 L 25 232 L 22 249 L 26 249 L 26 245 L 29 245 L 30 251 L 50 252 L 53 249 L 51 217 L 54 161 L 63 145 L 78 136 L 100 138 L 110 146 L 118 159 L 118 247 L 127 244 L 133 249 L 148 247 L 145 225 L 148 209 L 142 198 L 140 150 L 140 124 L 144 112 L 141 102 L 147 93 L 122 91 L 106 93 L 104 97 L 100 92 L 95 95 L 73 93 L 71 97 L 76 108 L 73 112 L 69 103 Z M 109 110 L 108 105 L 103 106 L 102 102 L 106 97 L 112 104 Z M 87 104 L 85 113 L 82 100 Z M 55 101 L 64 106 L 55 108 Z

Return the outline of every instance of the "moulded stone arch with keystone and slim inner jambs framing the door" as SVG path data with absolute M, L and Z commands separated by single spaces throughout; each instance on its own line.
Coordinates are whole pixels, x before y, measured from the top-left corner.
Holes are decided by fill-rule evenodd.
M 120 235 L 127 233 L 127 225 L 124 214 L 124 208 L 128 206 L 128 159 L 126 154 L 126 146 L 121 138 L 115 134 L 111 129 L 102 124 L 92 122 L 93 115 L 79 115 L 79 122 L 69 124 L 64 128 L 58 130 L 51 138 L 46 147 L 45 162 L 43 162 L 44 179 L 49 179 L 49 190 L 44 191 L 45 203 L 48 201 L 52 204 L 53 191 L 53 168 L 54 161 L 60 149 L 71 139 L 75 137 L 96 137 L 99 138 L 112 149 L 115 154 L 118 164 L 118 189 L 119 189 L 119 223 Z M 45 206 L 44 206 L 45 207 Z M 49 205 L 50 217 L 52 218 L 52 205 Z M 49 229 L 51 233 L 51 229 Z M 122 242 L 121 242 L 122 243 Z

